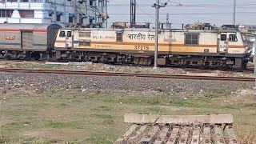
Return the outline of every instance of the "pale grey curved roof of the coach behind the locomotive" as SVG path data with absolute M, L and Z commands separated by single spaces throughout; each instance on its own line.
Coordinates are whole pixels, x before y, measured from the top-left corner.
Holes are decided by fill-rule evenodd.
M 0 29 L 10 29 L 10 30 L 47 30 L 47 28 L 49 26 L 52 26 L 52 25 L 56 25 L 56 24 L 1 23 L 0 24 Z

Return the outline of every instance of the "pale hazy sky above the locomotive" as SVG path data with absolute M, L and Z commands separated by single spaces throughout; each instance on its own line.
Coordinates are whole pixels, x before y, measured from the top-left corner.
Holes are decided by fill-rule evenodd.
M 109 0 L 109 22 L 130 21 L 130 0 Z M 166 2 L 168 0 L 160 0 Z M 155 0 L 137 0 L 136 22 L 154 22 Z M 221 26 L 233 23 L 234 0 L 173 0 L 184 6 L 166 6 L 160 9 L 160 22 L 166 22 L 166 14 L 170 14 L 173 27 L 181 27 L 182 23 L 210 22 Z M 147 15 L 150 14 L 150 15 Z M 256 25 L 256 0 L 237 0 L 237 23 Z M 154 24 L 153 24 L 154 25 Z M 153 26 L 152 25 L 152 26 Z

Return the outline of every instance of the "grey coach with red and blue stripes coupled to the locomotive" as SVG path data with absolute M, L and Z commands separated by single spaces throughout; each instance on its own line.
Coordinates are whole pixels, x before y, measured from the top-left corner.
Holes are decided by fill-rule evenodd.
M 58 24 L 0 24 L 0 58 L 46 58 L 52 55 Z

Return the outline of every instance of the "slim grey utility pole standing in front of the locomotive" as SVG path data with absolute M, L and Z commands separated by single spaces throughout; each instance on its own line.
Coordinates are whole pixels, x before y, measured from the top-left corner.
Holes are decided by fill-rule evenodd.
M 165 7 L 166 5 L 167 5 L 167 2 L 160 5 L 159 0 L 156 0 L 156 3 L 154 3 L 154 5 L 153 5 L 153 7 L 155 8 L 154 69 L 158 68 L 158 29 L 159 29 L 159 23 L 158 22 L 159 22 L 159 9 L 161 7 Z

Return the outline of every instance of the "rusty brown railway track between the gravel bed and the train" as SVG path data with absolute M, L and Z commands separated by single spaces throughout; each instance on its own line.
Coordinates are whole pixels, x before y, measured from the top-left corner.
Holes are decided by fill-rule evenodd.
M 97 71 L 78 71 L 78 70 L 31 70 L 31 69 L 0 69 L 0 72 L 11 73 L 34 73 L 34 74 L 79 74 L 94 76 L 113 76 L 113 77 L 140 77 L 140 78 L 173 78 L 173 79 L 195 79 L 195 80 L 214 80 L 214 81 L 238 81 L 254 82 L 254 78 L 243 77 L 213 77 L 213 76 L 193 76 L 193 75 L 168 75 L 168 74 L 141 74 L 141 73 L 114 73 Z

